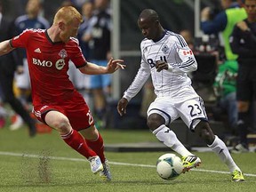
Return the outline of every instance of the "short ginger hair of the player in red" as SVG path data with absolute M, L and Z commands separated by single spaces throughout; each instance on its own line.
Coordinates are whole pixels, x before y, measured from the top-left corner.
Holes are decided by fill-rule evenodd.
M 64 6 L 61 7 L 58 12 L 56 12 L 54 19 L 53 19 L 53 24 L 57 24 L 60 21 L 69 24 L 71 23 L 74 19 L 79 20 L 80 22 L 83 21 L 82 15 L 80 12 L 76 10 L 75 7 L 73 6 Z

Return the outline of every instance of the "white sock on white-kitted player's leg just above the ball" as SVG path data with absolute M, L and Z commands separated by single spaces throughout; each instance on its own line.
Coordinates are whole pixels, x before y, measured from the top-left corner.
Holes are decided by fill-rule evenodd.
M 159 126 L 156 130 L 153 131 L 153 134 L 156 135 L 156 138 L 161 142 L 164 142 L 169 148 L 172 148 L 176 153 L 180 154 L 180 156 L 193 156 L 187 148 L 185 148 L 180 140 L 176 137 L 176 134 L 172 132 L 168 127 L 164 124 Z

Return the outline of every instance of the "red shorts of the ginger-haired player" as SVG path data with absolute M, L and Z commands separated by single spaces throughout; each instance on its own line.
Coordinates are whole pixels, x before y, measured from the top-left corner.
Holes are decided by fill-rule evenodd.
M 69 123 L 71 124 L 72 128 L 75 129 L 76 131 L 81 131 L 94 124 L 94 120 L 90 112 L 90 109 L 85 102 L 84 104 L 76 103 L 68 106 L 36 106 L 33 108 L 33 113 L 39 121 L 46 124 L 44 121 L 44 117 L 51 110 L 59 111 L 60 113 L 67 116 Z

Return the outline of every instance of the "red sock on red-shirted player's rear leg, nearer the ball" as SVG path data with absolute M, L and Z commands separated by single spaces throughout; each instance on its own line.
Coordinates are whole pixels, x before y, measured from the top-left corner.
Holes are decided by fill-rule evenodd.
M 95 153 L 100 156 L 100 161 L 102 163 L 105 162 L 105 156 L 104 156 L 104 144 L 103 144 L 103 139 L 100 135 L 99 132 L 99 137 L 97 140 L 85 140 L 87 145 L 92 148 L 93 151 L 95 151 Z

